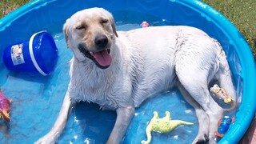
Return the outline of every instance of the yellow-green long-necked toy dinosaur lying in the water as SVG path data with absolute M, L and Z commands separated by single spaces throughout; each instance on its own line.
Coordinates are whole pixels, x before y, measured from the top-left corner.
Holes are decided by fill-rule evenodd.
M 154 111 L 154 117 L 151 119 L 149 125 L 146 126 L 147 141 L 142 141 L 142 144 L 149 144 L 151 142 L 151 139 L 152 139 L 151 131 L 156 131 L 158 133 L 169 133 L 179 125 L 193 125 L 193 124 L 194 123 L 191 123 L 191 122 L 171 120 L 169 111 L 166 111 L 166 116 L 164 118 L 159 118 L 158 112 Z

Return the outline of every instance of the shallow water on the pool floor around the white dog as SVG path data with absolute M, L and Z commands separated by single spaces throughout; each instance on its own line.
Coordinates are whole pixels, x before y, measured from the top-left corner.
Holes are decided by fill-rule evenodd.
M 117 18 L 118 19 L 118 18 Z M 122 18 L 119 18 L 122 19 Z M 150 19 L 151 26 L 170 25 L 164 20 Z M 116 21 L 117 30 L 140 28 L 138 22 Z M 0 122 L 0 143 L 33 143 L 54 125 L 69 82 L 69 61 L 72 57 L 66 48 L 62 33 L 53 34 L 59 50 L 54 73 L 43 77 L 39 74 L 8 72 L 1 66 L 0 86 L 11 104 L 11 122 Z M 153 143 L 191 143 L 198 132 L 194 109 L 182 98 L 178 90 L 168 90 L 144 102 L 136 110 L 126 132 L 124 143 L 146 140 L 146 126 L 158 111 L 159 117 L 170 111 L 172 119 L 193 122 L 193 126 L 178 126 L 169 134 L 152 133 Z M 70 113 L 65 130 L 58 143 L 105 143 L 115 122 L 114 111 L 99 110 L 99 106 L 80 102 Z

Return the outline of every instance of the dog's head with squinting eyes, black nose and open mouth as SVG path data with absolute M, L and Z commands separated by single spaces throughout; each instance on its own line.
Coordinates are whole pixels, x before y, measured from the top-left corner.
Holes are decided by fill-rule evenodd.
M 110 12 L 102 8 L 78 11 L 66 20 L 63 31 L 67 46 L 79 61 L 90 59 L 102 69 L 110 66 L 111 47 L 118 37 Z

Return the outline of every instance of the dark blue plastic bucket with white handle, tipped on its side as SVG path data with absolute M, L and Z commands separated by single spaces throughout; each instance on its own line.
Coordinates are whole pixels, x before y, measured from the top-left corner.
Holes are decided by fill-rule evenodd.
M 56 65 L 58 49 L 46 31 L 33 34 L 29 41 L 6 46 L 3 62 L 8 70 L 49 75 Z

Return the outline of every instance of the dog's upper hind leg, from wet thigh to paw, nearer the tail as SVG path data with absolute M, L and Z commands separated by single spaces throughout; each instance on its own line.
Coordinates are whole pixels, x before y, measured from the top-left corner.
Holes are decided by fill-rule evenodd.
M 194 65 L 193 65 L 194 66 Z M 176 66 L 179 82 L 192 98 L 206 111 L 209 117 L 209 143 L 216 143 L 214 131 L 218 129 L 218 120 L 222 118 L 223 109 L 210 96 L 208 90 L 208 71 L 194 69 L 191 65 Z M 187 71 L 190 71 L 189 73 Z M 203 125 L 204 123 L 200 124 Z M 207 126 L 207 122 L 206 125 Z M 198 140 L 195 139 L 195 142 Z

